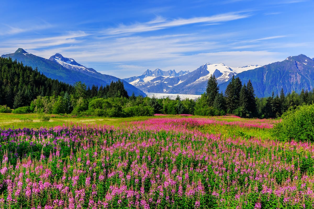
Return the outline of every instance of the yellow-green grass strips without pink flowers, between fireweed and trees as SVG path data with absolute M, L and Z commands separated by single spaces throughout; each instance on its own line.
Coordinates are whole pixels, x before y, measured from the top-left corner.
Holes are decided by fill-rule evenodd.
M 40 119 L 40 115 L 37 113 L 29 114 L 14 114 L 14 113 L 0 113 L 0 128 L 51 128 L 56 126 L 71 126 L 71 124 L 97 124 L 97 125 L 108 125 L 114 127 L 125 126 L 126 123 L 133 121 L 144 121 L 151 118 L 208 118 L 217 122 L 224 123 L 275 123 L 277 120 L 268 119 L 268 120 L 259 120 L 259 119 L 247 119 L 247 118 L 238 118 L 232 116 L 181 116 L 181 115 L 159 115 L 151 117 L 129 117 L 129 118 L 104 118 L 104 117 L 73 117 L 73 116 L 61 116 L 61 115 L 50 115 L 50 120 L 43 122 Z M 236 136 L 243 138 L 263 138 L 268 139 L 272 138 L 270 130 L 268 128 L 254 128 L 254 127 L 241 127 L 239 125 L 228 125 L 228 124 L 219 124 L 212 123 L 207 124 L 201 127 L 201 131 L 204 133 L 221 133 L 225 137 Z

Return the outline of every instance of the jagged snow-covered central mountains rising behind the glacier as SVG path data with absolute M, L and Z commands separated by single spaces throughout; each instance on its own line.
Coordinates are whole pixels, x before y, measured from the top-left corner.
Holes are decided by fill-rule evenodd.
M 141 76 L 125 78 L 133 86 L 144 92 L 169 93 L 169 94 L 202 94 L 206 90 L 206 85 L 210 75 L 217 78 L 218 83 L 228 81 L 233 75 L 240 72 L 260 67 L 258 65 L 247 65 L 245 67 L 228 67 L 220 64 L 204 64 L 195 71 L 175 70 L 154 71 L 147 70 Z

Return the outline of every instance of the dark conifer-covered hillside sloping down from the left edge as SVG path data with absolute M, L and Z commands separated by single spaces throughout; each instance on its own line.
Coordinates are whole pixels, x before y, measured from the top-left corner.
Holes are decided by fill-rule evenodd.
M 8 107 L 30 105 L 37 96 L 59 96 L 72 92 L 73 86 L 47 78 L 11 58 L 0 58 L 0 104 Z

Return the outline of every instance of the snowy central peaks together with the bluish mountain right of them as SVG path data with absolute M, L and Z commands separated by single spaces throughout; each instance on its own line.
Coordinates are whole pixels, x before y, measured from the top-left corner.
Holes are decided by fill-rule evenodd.
M 216 77 L 219 91 L 222 92 L 225 92 L 232 76 L 239 77 L 242 84 L 251 80 L 257 97 L 269 97 L 273 93 L 279 95 L 281 89 L 287 94 L 292 91 L 300 93 L 302 89 L 312 91 L 314 88 L 314 58 L 302 54 L 264 66 L 229 67 L 222 63 L 207 63 L 192 72 L 180 71 L 178 76 L 164 73 L 160 69 L 147 70 L 141 76 L 124 80 L 144 92 L 170 94 L 200 95 L 206 91 L 210 75 Z M 172 75 L 175 75 L 175 71 Z

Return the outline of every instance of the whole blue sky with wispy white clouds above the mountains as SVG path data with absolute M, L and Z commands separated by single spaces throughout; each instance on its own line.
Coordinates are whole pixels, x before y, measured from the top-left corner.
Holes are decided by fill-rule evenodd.
M 60 53 L 119 78 L 205 63 L 266 65 L 314 57 L 313 11 L 313 0 L 2 0 L 0 54 Z

